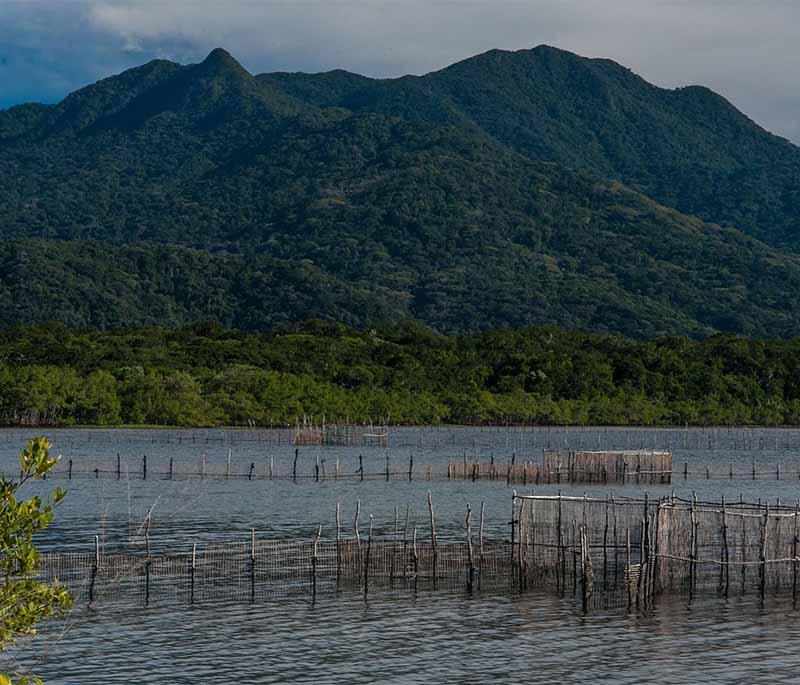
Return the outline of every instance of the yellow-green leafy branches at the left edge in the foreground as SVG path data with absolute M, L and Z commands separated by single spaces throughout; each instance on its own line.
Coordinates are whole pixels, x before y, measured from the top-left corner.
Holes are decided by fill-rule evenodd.
M 45 438 L 34 438 L 20 454 L 20 479 L 0 479 L 0 648 L 36 632 L 36 624 L 69 608 L 69 593 L 57 583 L 47 585 L 35 578 L 38 554 L 33 544 L 36 533 L 53 519 L 53 508 L 64 493 L 56 488 L 50 499 L 20 499 L 19 493 L 32 478 L 44 478 L 58 463 L 50 456 Z M 15 674 L 18 685 L 40 683 L 38 678 Z M 0 675 L 0 685 L 11 683 Z

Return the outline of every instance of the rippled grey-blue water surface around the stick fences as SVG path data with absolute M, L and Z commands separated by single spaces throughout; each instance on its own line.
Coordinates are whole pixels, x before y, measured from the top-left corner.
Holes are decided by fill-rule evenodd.
M 0 469 L 13 471 L 16 454 L 32 433 L 0 432 Z M 316 526 L 332 535 L 336 503 L 352 521 L 356 500 L 363 516 L 375 515 L 380 530 L 408 504 L 420 522 L 427 517 L 431 491 L 443 537 L 463 536 L 467 502 L 486 503 L 487 535 L 509 534 L 510 489 L 479 481 L 303 479 L 252 481 L 206 479 L 166 481 L 140 477 L 141 456 L 148 467 L 197 463 L 224 464 L 230 450 L 234 473 L 251 462 L 263 467 L 272 457 L 288 465 L 294 448 L 286 433 L 221 431 L 48 431 L 58 452 L 81 460 L 110 461 L 117 453 L 127 475 L 121 480 L 58 481 L 68 496 L 44 547 L 93 549 L 94 535 L 106 552 L 141 548 L 142 522 L 152 511 L 151 544 L 170 550 L 211 540 L 259 536 L 311 537 Z M 545 446 L 575 448 L 665 447 L 675 461 L 692 465 L 794 465 L 800 456 L 798 431 L 624 431 L 624 430 L 402 430 L 392 447 L 305 448 L 299 471 L 313 471 L 317 456 L 328 464 L 338 457 L 342 473 L 354 472 L 358 454 L 365 468 L 390 464 L 443 464 L 450 457 L 480 455 L 505 462 L 538 459 Z M 35 484 L 44 492 L 55 481 Z M 797 480 L 677 479 L 669 487 L 648 486 L 651 495 L 697 491 L 700 497 L 780 497 L 800 495 Z M 522 488 L 519 488 L 522 489 Z M 530 489 L 530 488 L 528 488 Z M 552 486 L 538 492 L 552 492 Z M 641 495 L 643 489 L 562 486 L 565 494 Z M 363 521 L 364 519 L 362 519 Z M 362 524 L 363 525 L 363 524 Z M 778 606 L 749 600 L 686 606 L 661 602 L 652 616 L 597 613 L 582 616 L 574 600 L 549 595 L 474 596 L 403 591 L 282 599 L 270 603 L 122 607 L 77 607 L 69 619 L 43 627 L 13 654 L 55 683 L 511 683 L 607 682 L 800 682 L 796 650 L 800 621 Z

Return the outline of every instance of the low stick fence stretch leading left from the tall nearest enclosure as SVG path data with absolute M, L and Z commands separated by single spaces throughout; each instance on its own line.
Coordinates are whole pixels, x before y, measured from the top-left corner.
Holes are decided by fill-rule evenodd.
M 187 545 L 176 553 L 104 554 L 99 538 L 94 552 L 46 552 L 40 577 L 57 580 L 76 601 L 102 600 L 195 602 L 310 596 L 338 590 L 370 591 L 408 588 L 496 591 L 509 589 L 510 546 L 507 540 L 484 538 L 484 507 L 473 523 L 467 509 L 461 540 L 440 540 L 432 499 L 427 529 L 395 510 L 393 525 L 382 530 L 360 528 L 360 505 L 350 535 L 343 535 L 336 509 L 336 536 L 323 527 L 305 540 L 263 540 L 255 531 L 249 541 Z M 149 530 L 149 526 L 148 526 Z

